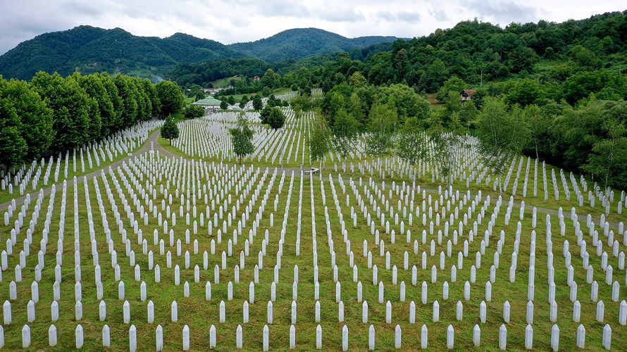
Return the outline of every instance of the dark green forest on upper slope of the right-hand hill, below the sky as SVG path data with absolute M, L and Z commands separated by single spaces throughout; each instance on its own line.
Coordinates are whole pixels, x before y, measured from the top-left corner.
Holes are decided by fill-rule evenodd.
M 397 41 L 365 61 L 340 55 L 309 70 L 312 84 L 325 92 L 360 72 L 371 84 L 404 82 L 418 92 L 437 92 L 449 77 L 469 87 L 481 82 L 530 78 L 551 87 L 573 75 L 607 70 L 619 75 L 627 63 L 626 13 L 606 13 L 564 23 L 511 24 L 478 20 L 437 30 L 428 37 Z M 576 79 L 576 78 L 573 78 Z

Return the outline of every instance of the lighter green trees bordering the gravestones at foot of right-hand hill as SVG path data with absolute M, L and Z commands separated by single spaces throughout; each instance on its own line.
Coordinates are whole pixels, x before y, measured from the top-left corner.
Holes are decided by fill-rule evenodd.
M 523 154 L 627 189 L 627 101 L 590 94 L 575 105 L 552 99 L 522 105 L 504 92 L 462 102 L 460 81 L 447 80 L 440 89 L 445 103 L 433 105 L 406 84 L 376 87 L 354 73 L 351 84 L 325 94 L 323 119 L 311 136 L 312 157 L 331 147 L 346 157 L 363 135 L 370 156 L 397 155 L 414 164 L 426 157 L 421 141 L 428 139 L 442 162 L 449 146 L 469 134 L 478 137 L 479 151 L 497 175 L 509 166 L 506 161 Z

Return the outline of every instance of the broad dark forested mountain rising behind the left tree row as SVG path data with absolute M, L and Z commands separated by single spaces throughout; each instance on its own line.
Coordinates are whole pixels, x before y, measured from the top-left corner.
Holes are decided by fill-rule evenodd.
M 137 37 L 115 28 L 79 26 L 40 34 L 0 56 L 0 74 L 30 79 L 37 71 L 69 75 L 109 72 L 155 78 L 178 63 L 240 58 L 243 54 L 208 39 L 177 33 L 168 38 Z

